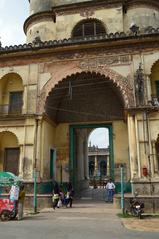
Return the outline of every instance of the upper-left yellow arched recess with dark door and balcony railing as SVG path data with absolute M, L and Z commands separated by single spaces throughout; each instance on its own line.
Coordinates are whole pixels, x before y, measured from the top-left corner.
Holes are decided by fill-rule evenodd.
M 23 83 L 16 73 L 9 73 L 0 82 L 0 114 L 21 114 L 23 106 Z

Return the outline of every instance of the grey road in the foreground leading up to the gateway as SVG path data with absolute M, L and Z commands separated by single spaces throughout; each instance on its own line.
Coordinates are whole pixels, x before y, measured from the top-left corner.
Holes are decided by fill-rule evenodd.
M 22 221 L 0 222 L 0 239 L 158 239 L 159 233 L 126 229 L 118 210 L 103 203 L 47 209 Z

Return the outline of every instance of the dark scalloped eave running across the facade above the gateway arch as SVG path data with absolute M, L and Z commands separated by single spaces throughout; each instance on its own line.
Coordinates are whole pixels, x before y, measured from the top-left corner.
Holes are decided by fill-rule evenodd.
M 111 45 L 111 43 L 116 42 L 116 45 L 120 46 L 120 43 L 122 41 L 122 47 L 124 43 L 128 41 L 127 44 L 131 45 L 134 44 L 134 41 L 138 41 L 140 43 L 140 48 L 145 48 L 144 44 L 141 44 L 141 41 L 146 41 L 148 40 L 149 45 L 150 45 L 150 39 L 154 40 L 155 37 L 155 42 L 157 45 L 158 44 L 158 37 L 159 37 L 159 28 L 151 28 L 151 29 L 146 29 L 145 32 L 138 33 L 137 35 L 133 35 L 132 33 L 126 34 L 125 32 L 115 32 L 115 33 L 110 33 L 110 34 L 103 34 L 103 35 L 97 35 L 97 36 L 89 36 L 89 37 L 83 37 L 83 38 L 68 38 L 68 39 L 63 39 L 63 40 L 50 40 L 50 41 L 45 41 L 45 42 L 38 42 L 36 44 L 34 43 L 28 43 L 28 44 L 23 44 L 23 45 L 14 45 L 14 46 L 5 46 L 5 47 L 0 47 L 0 55 L 10 53 L 10 52 L 21 52 L 21 51 L 32 51 L 37 53 L 37 49 L 52 49 L 52 48 L 57 48 L 57 47 L 69 47 L 72 45 L 82 45 L 82 44 L 106 44 L 108 43 Z M 118 44 L 119 41 L 119 44 Z M 131 41 L 131 42 L 130 42 Z M 154 44 L 153 44 L 154 45 Z

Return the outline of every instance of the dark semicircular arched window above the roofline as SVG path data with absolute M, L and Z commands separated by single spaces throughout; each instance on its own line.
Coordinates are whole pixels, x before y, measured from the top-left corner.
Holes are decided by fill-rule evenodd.
M 102 22 L 95 19 L 88 19 L 79 22 L 72 31 L 73 38 L 82 38 L 85 36 L 96 36 L 105 34 L 106 30 Z

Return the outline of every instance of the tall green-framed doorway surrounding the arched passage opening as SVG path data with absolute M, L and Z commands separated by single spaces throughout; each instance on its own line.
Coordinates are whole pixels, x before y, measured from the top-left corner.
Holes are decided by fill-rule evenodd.
M 89 187 L 88 136 L 93 129 L 106 128 L 109 133 L 109 176 L 114 179 L 113 129 L 111 124 L 84 124 L 70 126 L 70 181 L 75 190 Z M 85 142 L 86 141 L 86 142 Z M 86 144 L 85 144 L 86 143 Z M 87 152 L 85 150 L 86 145 Z M 87 154 L 87 155 L 86 155 Z M 103 164 L 104 165 L 104 164 Z M 91 165 L 93 170 L 93 165 Z M 102 166 L 102 164 L 101 164 Z M 87 178 L 88 175 L 88 178 Z M 98 175 L 97 175 L 98 176 Z

